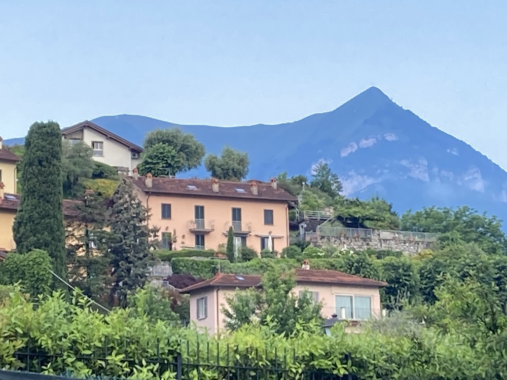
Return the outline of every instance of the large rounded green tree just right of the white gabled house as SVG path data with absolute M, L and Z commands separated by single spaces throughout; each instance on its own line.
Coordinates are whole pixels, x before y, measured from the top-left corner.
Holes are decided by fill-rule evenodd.
M 197 168 L 204 157 L 204 145 L 178 128 L 156 129 L 144 139 L 139 173 L 176 175 Z

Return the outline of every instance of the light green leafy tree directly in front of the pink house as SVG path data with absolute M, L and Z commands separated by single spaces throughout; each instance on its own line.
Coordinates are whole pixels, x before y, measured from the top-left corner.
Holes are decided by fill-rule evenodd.
M 321 303 L 315 302 L 309 292 L 301 296 L 294 294 L 295 286 L 294 272 L 267 272 L 262 279 L 262 290 L 236 292 L 227 298 L 229 307 L 223 308 L 227 328 L 234 330 L 258 321 L 269 325 L 277 334 L 289 335 L 300 323 L 321 322 Z

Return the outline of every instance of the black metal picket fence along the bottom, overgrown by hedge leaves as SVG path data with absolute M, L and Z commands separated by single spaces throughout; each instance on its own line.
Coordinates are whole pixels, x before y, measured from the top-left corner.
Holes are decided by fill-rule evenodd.
M 123 346 L 123 345 L 122 345 Z M 224 347 L 225 346 L 225 347 Z M 307 357 L 298 357 L 296 350 L 277 352 L 267 350 L 257 350 L 243 348 L 239 349 L 236 346 L 230 345 L 219 345 L 218 343 L 199 345 L 198 343 L 190 344 L 184 343 L 179 347 L 179 350 L 170 350 L 167 352 L 167 347 L 171 347 L 169 344 L 161 345 L 158 341 L 154 343 L 154 347 L 148 350 L 147 347 L 139 347 L 138 351 L 128 354 L 128 343 L 125 343 L 125 349 L 118 350 L 116 355 L 127 353 L 122 363 L 125 363 L 125 367 L 134 368 L 146 367 L 147 365 L 156 365 L 154 371 L 158 376 L 166 371 L 172 372 L 176 380 L 183 379 L 196 379 L 196 380 L 207 380 L 209 378 L 224 379 L 224 380 L 355 380 L 356 377 L 351 373 L 344 376 L 333 374 L 333 368 L 317 368 L 312 361 L 308 361 Z M 164 347 L 166 350 L 164 350 Z M 73 361 L 77 362 L 81 366 L 91 368 L 92 371 L 87 377 L 105 379 L 123 379 L 123 378 L 135 378 L 132 377 L 132 370 L 124 371 L 123 375 L 119 376 L 115 373 L 108 373 L 107 368 L 113 368 L 115 366 L 123 365 L 114 362 L 111 359 L 111 354 L 115 350 L 114 347 L 107 346 L 107 342 L 103 348 L 97 348 L 95 352 L 89 355 L 83 355 L 74 353 Z M 154 354 L 148 355 L 148 352 Z M 58 373 L 66 378 L 73 378 L 72 371 L 66 366 L 64 361 L 64 355 L 60 353 L 47 353 L 43 351 L 37 351 L 30 348 L 29 345 L 22 351 L 18 351 L 14 354 L 14 357 L 18 361 L 17 367 L 13 369 L 18 372 L 8 371 L 6 376 L 0 378 L 2 380 L 56 380 L 60 377 L 46 376 L 39 374 L 48 365 L 53 368 L 55 372 L 58 372 L 57 368 L 60 368 Z M 344 355 L 340 358 L 342 365 L 350 363 L 350 355 Z M 59 363 L 59 364 L 57 364 Z M 295 368 L 301 368 L 300 373 L 295 371 Z M 7 376 L 8 375 L 8 376 Z

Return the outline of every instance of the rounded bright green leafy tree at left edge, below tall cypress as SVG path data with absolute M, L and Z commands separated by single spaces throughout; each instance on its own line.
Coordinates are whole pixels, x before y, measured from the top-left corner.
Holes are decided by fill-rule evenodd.
M 23 290 L 32 297 L 49 294 L 53 276 L 48 253 L 34 249 L 24 255 L 10 253 L 0 263 L 0 284 L 12 285 L 20 282 Z

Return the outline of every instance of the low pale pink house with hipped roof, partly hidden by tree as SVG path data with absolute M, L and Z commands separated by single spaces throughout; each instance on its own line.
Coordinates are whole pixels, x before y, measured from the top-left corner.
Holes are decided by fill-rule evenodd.
M 387 284 L 338 271 L 309 269 L 296 270 L 295 294 L 310 291 L 317 302 L 322 302 L 322 317 L 333 314 L 343 320 L 358 322 L 381 314 L 379 289 Z M 180 290 L 190 294 L 190 319 L 197 327 L 213 334 L 225 328 L 222 311 L 226 299 L 247 288 L 260 288 L 261 276 L 216 274 L 215 277 Z

